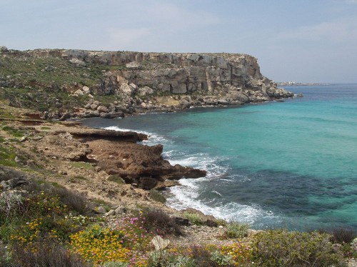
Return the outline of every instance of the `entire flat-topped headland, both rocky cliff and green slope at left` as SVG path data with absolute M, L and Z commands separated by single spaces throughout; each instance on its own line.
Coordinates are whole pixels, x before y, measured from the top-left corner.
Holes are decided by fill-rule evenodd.
M 0 88 L 11 106 L 44 119 L 122 117 L 292 97 L 246 54 L 0 49 Z M 36 105 L 37 104 L 37 105 Z

